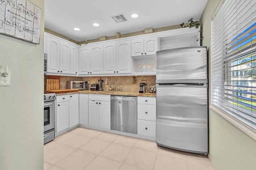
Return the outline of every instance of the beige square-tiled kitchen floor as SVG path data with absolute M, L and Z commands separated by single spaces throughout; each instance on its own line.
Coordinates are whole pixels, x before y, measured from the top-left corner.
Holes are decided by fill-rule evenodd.
M 214 170 L 206 156 L 77 127 L 44 145 L 44 170 Z

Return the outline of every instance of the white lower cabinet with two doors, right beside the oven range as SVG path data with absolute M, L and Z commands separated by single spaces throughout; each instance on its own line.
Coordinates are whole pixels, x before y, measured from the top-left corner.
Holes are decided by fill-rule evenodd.
M 56 129 L 55 133 L 60 135 L 61 131 L 68 131 L 71 127 L 79 124 L 79 95 L 56 96 Z

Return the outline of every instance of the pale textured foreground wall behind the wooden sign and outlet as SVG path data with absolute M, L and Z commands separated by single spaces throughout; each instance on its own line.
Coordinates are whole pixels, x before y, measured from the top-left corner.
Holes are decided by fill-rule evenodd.
M 0 86 L 0 170 L 43 170 L 44 0 L 40 44 L 0 34 L 0 64 L 11 86 Z

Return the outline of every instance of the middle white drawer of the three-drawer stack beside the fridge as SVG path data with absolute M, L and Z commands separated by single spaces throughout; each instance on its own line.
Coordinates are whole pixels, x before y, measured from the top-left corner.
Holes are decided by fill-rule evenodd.
M 142 120 L 156 121 L 156 105 L 137 105 L 137 118 Z

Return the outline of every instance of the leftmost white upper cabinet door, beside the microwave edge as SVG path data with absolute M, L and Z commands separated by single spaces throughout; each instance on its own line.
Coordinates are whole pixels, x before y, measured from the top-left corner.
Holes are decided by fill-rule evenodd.
M 47 72 L 58 73 L 60 69 L 60 41 L 47 37 L 46 39 Z

